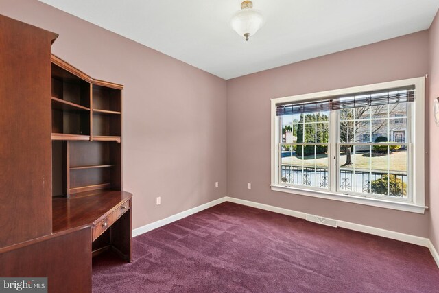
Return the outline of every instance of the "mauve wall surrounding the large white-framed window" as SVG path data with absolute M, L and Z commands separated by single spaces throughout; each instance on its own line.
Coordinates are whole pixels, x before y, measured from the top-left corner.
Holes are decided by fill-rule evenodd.
M 423 76 L 429 71 L 428 42 L 423 31 L 228 80 L 228 196 L 428 237 L 428 211 L 420 215 L 298 196 L 269 186 L 270 98 Z

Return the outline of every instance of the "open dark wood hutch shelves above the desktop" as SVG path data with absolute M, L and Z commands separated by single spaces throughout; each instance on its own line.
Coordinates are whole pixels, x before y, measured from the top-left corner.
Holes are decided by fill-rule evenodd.
M 54 196 L 121 190 L 121 90 L 52 56 Z M 84 135 L 86 134 L 86 135 Z

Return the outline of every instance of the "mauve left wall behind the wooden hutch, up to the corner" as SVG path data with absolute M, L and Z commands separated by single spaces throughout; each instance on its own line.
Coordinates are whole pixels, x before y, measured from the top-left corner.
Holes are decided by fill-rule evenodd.
M 123 189 L 134 194 L 133 228 L 226 196 L 225 80 L 36 0 L 0 0 L 0 14 L 60 34 L 54 54 L 125 85 Z

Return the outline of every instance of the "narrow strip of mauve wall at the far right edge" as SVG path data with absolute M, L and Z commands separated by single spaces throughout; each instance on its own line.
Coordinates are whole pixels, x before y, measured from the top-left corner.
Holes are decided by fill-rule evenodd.
M 430 36 L 430 77 L 429 77 L 429 100 L 439 97 L 439 14 L 436 14 L 434 22 L 429 30 Z M 430 125 L 430 160 L 429 183 L 430 190 L 430 239 L 436 250 L 439 250 L 439 127 L 434 123 L 433 111 L 428 113 Z

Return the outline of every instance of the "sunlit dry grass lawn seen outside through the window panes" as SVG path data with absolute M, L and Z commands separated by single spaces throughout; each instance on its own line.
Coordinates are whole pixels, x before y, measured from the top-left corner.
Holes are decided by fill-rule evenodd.
M 388 160 L 389 159 L 389 160 Z M 297 156 L 287 156 L 282 158 L 283 165 L 303 165 L 305 167 L 313 167 L 314 156 L 305 156 L 305 160 Z M 327 167 L 328 157 L 327 154 L 317 154 L 315 160 L 317 167 Z M 372 170 L 385 170 L 387 171 L 387 164 L 389 161 L 391 171 L 407 171 L 407 151 L 393 152 L 390 156 L 374 156 L 369 157 L 368 153 L 360 153 L 352 155 L 352 161 L 355 163 L 355 169 L 369 169 L 372 165 Z M 353 169 L 354 165 L 344 166 L 346 163 L 346 154 L 340 156 L 340 162 L 342 163 L 342 169 Z

